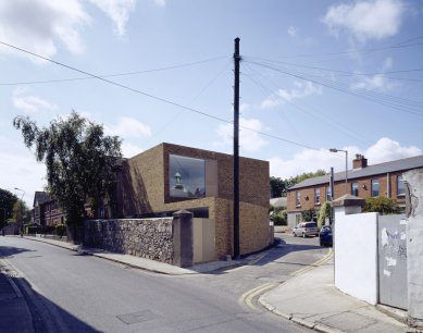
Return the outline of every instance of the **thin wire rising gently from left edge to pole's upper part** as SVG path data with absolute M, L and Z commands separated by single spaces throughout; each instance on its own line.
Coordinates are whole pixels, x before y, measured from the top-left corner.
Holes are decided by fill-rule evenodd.
M 125 73 L 116 73 L 116 74 L 105 74 L 105 75 L 98 75 L 99 77 L 116 77 L 116 76 L 127 76 L 127 75 L 137 75 L 137 74 L 146 74 L 146 73 L 153 73 L 153 72 L 162 72 L 162 71 L 169 71 L 169 70 L 176 70 L 182 67 L 188 67 L 194 66 L 224 58 L 229 58 L 228 55 L 221 55 L 221 57 L 214 57 L 201 61 L 195 61 L 189 63 L 183 63 L 172 66 L 164 66 L 159 69 L 152 69 L 152 70 L 145 70 L 145 71 L 135 71 L 135 72 L 125 72 Z M 49 83 L 61 83 L 61 82 L 73 82 L 73 81 L 84 81 L 84 79 L 94 79 L 97 77 L 94 76 L 84 76 L 84 77 L 71 77 L 71 78 L 58 78 L 58 79 L 45 79 L 45 81 L 28 81 L 28 82 L 16 82 L 16 83 L 0 83 L 0 86 L 16 86 L 16 85 L 34 85 L 34 84 L 49 84 Z

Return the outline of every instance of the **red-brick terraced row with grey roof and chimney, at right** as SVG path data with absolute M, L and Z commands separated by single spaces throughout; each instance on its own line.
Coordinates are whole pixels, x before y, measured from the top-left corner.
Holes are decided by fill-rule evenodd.
M 302 221 L 301 211 L 319 211 L 322 203 L 332 198 L 350 194 L 360 198 L 385 196 L 394 198 L 405 208 L 406 187 L 402 173 L 423 168 L 423 156 L 368 165 L 368 159 L 357 155 L 352 170 L 334 174 L 334 194 L 331 194 L 329 175 L 308 178 L 288 189 L 288 226 L 294 227 Z

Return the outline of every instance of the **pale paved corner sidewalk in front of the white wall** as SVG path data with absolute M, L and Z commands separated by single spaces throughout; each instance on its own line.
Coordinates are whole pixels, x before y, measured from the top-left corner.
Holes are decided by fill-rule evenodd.
M 268 310 L 320 332 L 419 332 L 334 286 L 333 258 L 259 299 Z

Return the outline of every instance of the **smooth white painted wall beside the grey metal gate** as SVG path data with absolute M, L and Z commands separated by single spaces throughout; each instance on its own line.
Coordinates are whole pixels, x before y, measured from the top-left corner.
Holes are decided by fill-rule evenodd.
M 335 286 L 377 304 L 377 213 L 335 211 Z

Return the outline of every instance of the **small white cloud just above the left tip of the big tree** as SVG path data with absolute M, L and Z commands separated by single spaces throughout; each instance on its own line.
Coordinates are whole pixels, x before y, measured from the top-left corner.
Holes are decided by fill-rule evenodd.
M 16 109 L 20 109 L 27 114 L 49 112 L 58 109 L 58 106 L 50 103 L 38 96 L 29 95 L 29 90 L 23 87 L 14 89 L 12 101 Z

